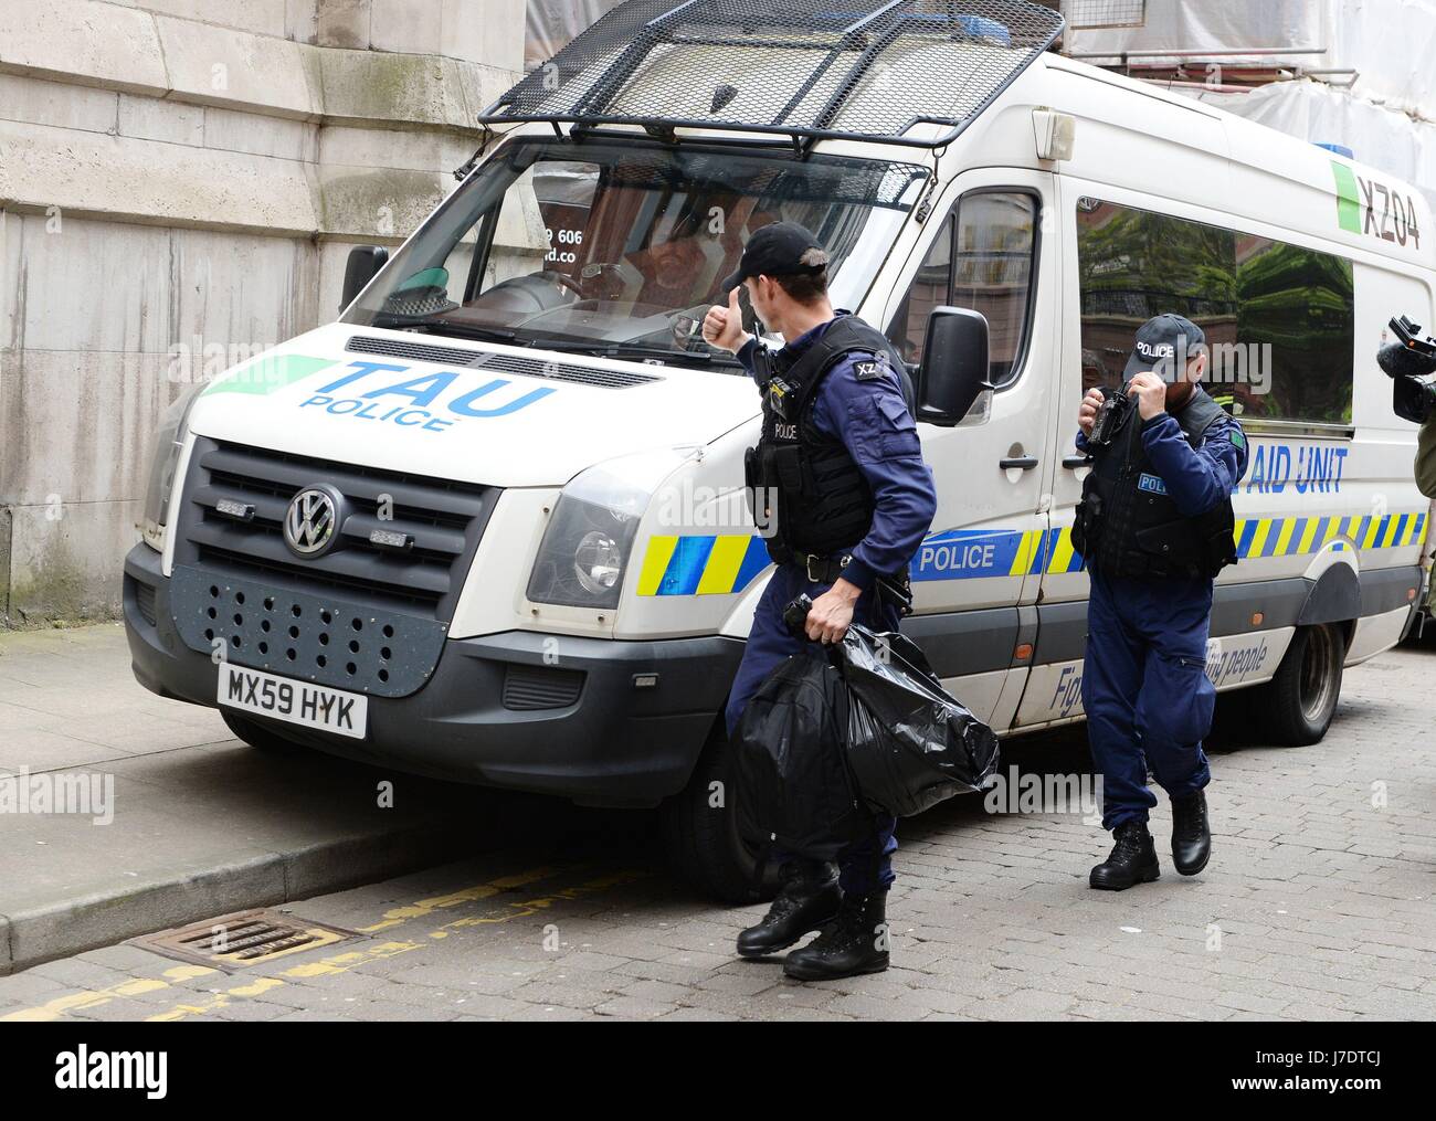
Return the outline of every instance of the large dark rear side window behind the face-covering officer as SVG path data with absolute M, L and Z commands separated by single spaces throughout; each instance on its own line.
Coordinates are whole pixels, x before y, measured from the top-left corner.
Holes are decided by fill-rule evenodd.
M 1232 413 L 1351 423 L 1351 261 L 1096 198 L 1077 204 L 1083 388 L 1117 385 L 1133 337 L 1176 311 L 1206 333 L 1203 383 Z

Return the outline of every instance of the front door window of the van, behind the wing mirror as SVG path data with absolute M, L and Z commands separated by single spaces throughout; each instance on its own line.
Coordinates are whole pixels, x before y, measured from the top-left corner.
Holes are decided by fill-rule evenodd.
M 1017 377 L 1031 309 L 1037 207 L 1025 191 L 972 191 L 958 200 L 887 332 L 908 362 L 922 362 L 933 307 L 971 307 L 988 320 L 992 383 Z

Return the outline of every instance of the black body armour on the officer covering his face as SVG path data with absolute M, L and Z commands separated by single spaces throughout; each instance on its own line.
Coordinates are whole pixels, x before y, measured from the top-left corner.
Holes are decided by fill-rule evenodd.
M 1195 449 L 1225 415 L 1198 388 L 1176 421 Z M 1093 455 L 1073 524 L 1073 547 L 1087 568 L 1114 577 L 1211 580 L 1236 564 L 1231 495 L 1200 517 L 1185 517 L 1147 459 L 1134 399 L 1111 444 Z

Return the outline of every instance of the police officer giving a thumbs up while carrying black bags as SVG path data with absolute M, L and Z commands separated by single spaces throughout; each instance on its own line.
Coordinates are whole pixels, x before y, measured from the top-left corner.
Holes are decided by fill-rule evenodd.
M 763 497 L 768 553 L 777 570 L 758 603 L 725 712 L 732 735 L 748 700 L 803 642 L 783 622 L 797 596 L 813 599 L 807 637 L 836 643 L 856 619 L 896 630 L 908 564 L 936 511 L 932 471 L 912 416 L 912 385 L 883 334 L 827 297 L 827 253 L 801 225 L 774 222 L 744 248 L 712 307 L 704 339 L 735 353 L 763 392 L 763 436 L 748 452 L 748 485 Z M 770 352 L 742 329 L 738 287 L 785 346 Z M 801 980 L 887 967 L 886 893 L 896 821 L 846 847 L 837 868 L 778 854 L 781 890 L 768 914 L 738 936 L 738 953 L 784 950 L 811 930 L 784 973 Z

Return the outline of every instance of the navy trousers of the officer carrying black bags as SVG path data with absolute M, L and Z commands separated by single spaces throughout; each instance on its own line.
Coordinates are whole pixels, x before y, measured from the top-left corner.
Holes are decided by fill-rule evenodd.
M 728 721 L 728 735 L 732 736 L 742 710 L 764 679 L 773 673 L 774 667 L 787 660 L 791 655 L 803 652 L 808 644 L 807 639 L 794 639 L 788 634 L 783 623 L 783 609 L 797 596 L 807 593 L 817 599 L 827 591 L 831 584 L 819 584 L 807 578 L 807 573 L 796 564 L 780 564 L 768 580 L 768 587 L 758 601 L 758 610 L 752 619 L 752 633 L 748 634 L 748 646 L 742 652 L 742 663 L 738 666 L 738 676 L 734 677 L 732 692 L 728 695 L 728 708 L 724 716 Z M 876 611 L 873 593 L 864 591 L 853 609 L 853 619 L 872 630 L 898 630 L 900 614 L 898 609 L 883 606 Z M 892 854 L 898 851 L 898 838 L 893 831 L 898 820 L 880 815 L 872 838 L 856 841 L 837 854 L 839 883 L 844 893 L 867 896 L 873 891 L 886 891 L 893 881 Z M 785 861 L 794 857 L 788 853 L 773 853 L 774 860 Z M 816 863 L 816 861 L 814 861 Z

